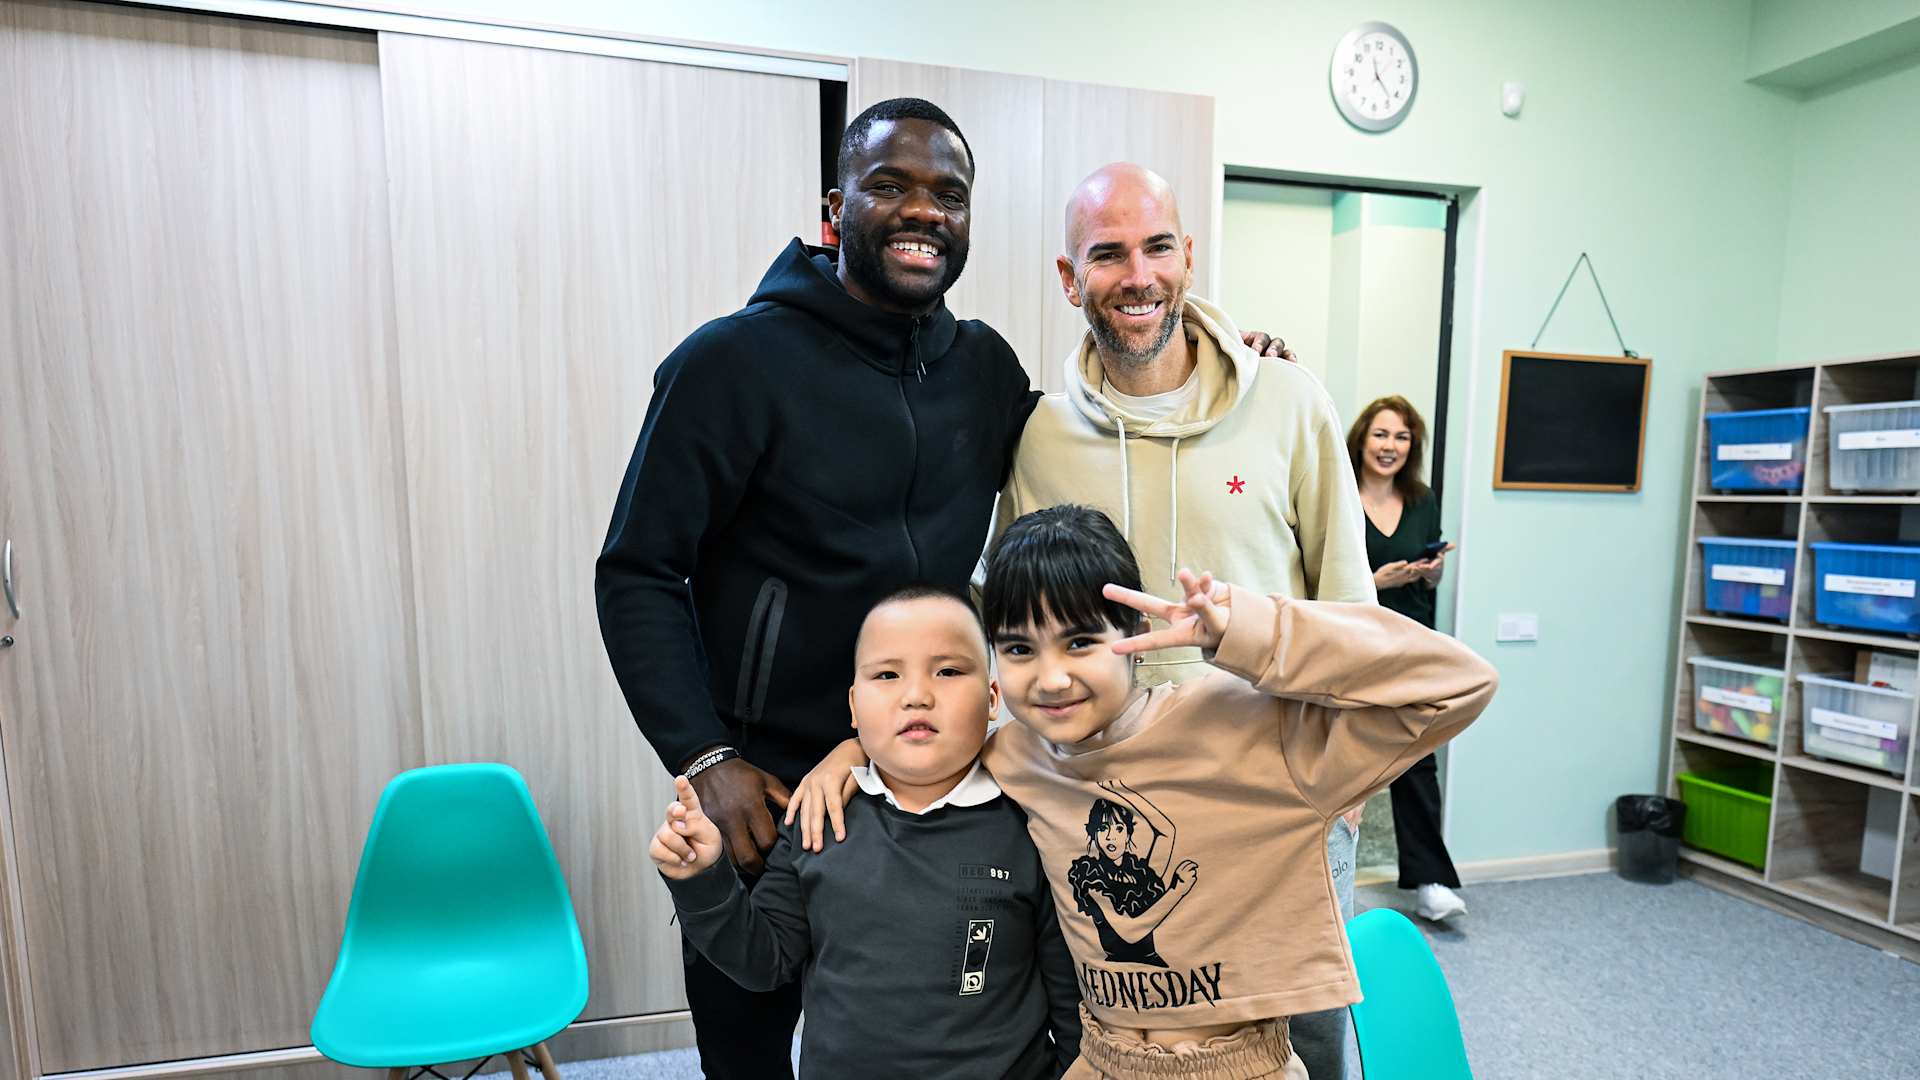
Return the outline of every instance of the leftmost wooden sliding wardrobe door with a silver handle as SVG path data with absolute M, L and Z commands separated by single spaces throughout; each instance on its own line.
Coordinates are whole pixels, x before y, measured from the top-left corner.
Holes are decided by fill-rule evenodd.
M 301 1045 L 420 759 L 374 40 L 0 2 L 0 208 L 40 1065 Z

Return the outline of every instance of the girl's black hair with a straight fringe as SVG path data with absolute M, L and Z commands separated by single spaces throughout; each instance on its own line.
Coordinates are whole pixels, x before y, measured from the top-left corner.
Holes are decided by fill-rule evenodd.
M 1056 619 L 1066 626 L 1133 632 L 1140 613 L 1100 594 L 1108 582 L 1140 588 L 1140 563 L 1114 519 L 1087 505 L 1023 515 L 987 552 L 981 605 L 989 640 Z

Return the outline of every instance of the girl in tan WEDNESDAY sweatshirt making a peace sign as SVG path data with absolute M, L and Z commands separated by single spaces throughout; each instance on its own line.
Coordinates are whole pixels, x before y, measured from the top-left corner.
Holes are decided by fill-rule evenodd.
M 1029 513 L 987 557 L 983 607 L 1016 724 L 985 763 L 1027 811 L 1083 997 L 1069 1076 L 1306 1076 L 1294 1013 L 1359 999 L 1327 828 L 1488 703 L 1494 669 L 1373 605 L 1260 596 L 1181 571 L 1139 592 L 1100 511 Z M 1140 632 L 1144 619 L 1165 628 Z M 1137 686 L 1142 651 L 1192 646 L 1221 673 Z M 795 792 L 843 832 L 835 751 Z M 822 813 L 826 811 L 826 813 Z

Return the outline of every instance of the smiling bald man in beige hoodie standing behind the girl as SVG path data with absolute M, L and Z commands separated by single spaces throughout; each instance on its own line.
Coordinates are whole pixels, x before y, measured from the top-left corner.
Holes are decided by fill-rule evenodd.
M 1265 594 L 1373 603 L 1359 486 L 1332 400 L 1300 365 L 1258 356 L 1225 311 L 1188 292 L 1194 242 L 1167 181 L 1106 165 L 1075 188 L 1066 219 L 1060 284 L 1089 331 L 1066 357 L 1068 390 L 1027 421 L 998 527 L 1092 505 L 1119 523 L 1154 596 L 1181 596 L 1179 567 L 1208 567 Z M 1198 650 L 1140 657 L 1142 682 L 1210 671 Z M 1329 836 L 1348 903 L 1356 826 Z M 1344 1009 L 1294 1019 L 1313 1080 L 1346 1074 L 1346 1026 Z

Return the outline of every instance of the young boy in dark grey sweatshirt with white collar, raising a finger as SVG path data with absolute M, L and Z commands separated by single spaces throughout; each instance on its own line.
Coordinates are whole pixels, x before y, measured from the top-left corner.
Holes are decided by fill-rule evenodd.
M 749 894 L 693 786 L 649 855 L 687 940 L 747 990 L 803 978 L 801 1076 L 1050 1080 L 1079 1055 L 1079 986 L 1025 815 L 979 765 L 1000 703 L 966 596 L 881 600 L 854 648 L 845 842 L 789 824 Z

